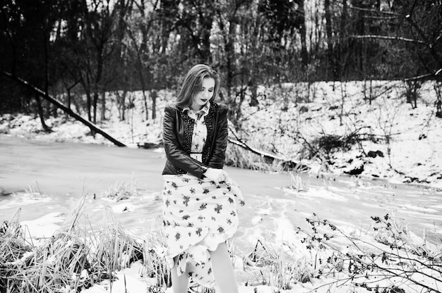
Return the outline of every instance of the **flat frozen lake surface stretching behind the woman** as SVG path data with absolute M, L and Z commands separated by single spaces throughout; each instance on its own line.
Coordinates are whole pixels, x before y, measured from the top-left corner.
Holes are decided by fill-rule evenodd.
M 82 194 L 87 194 L 85 208 L 92 223 L 99 223 L 109 207 L 123 227 L 138 234 L 147 232 L 161 223 L 164 163 L 161 150 L 49 143 L 1 135 L 0 221 L 9 220 L 20 207 L 20 221 L 52 216 L 56 222 L 55 218 L 63 219 Z M 383 180 L 301 175 L 306 190 L 287 192 L 287 174 L 226 170 L 246 199 L 246 206 L 239 211 L 238 231 L 239 242 L 244 244 L 267 237 L 269 232 L 280 237 L 290 235 L 293 227 L 306 227 L 305 218 L 313 213 L 335 225 L 355 229 L 369 227 L 371 216 L 389 213 L 417 235 L 429 236 L 439 244 L 442 241 L 442 192 L 436 189 Z M 118 202 L 102 198 L 119 182 L 136 183 L 138 195 Z M 44 197 L 32 199 L 25 189 L 40 189 Z M 48 227 L 40 236 L 49 237 L 51 232 Z

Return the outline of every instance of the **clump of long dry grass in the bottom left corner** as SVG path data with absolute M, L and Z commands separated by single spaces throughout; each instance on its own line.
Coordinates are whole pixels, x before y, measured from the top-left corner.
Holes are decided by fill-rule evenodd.
M 109 211 L 105 227 L 93 231 L 83 213 L 85 197 L 64 225 L 39 245 L 28 242 L 19 213 L 0 230 L 1 292 L 79 292 L 136 261 L 141 244 Z

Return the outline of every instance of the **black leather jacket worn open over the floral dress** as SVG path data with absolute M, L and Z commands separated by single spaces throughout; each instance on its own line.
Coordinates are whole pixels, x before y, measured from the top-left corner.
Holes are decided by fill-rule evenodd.
M 227 106 L 212 102 L 209 113 L 204 117 L 207 139 L 203 146 L 203 162 L 191 158 L 193 123 L 183 109 L 174 104 L 165 108 L 162 139 L 165 144 L 166 165 L 163 175 L 191 173 L 203 177 L 207 168 L 222 169 L 227 147 Z

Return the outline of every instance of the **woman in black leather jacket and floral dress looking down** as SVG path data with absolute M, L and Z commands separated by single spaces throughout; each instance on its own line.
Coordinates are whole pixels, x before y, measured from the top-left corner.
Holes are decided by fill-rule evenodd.
M 187 73 L 174 104 L 165 108 L 162 175 L 167 262 L 174 293 L 189 277 L 222 293 L 237 293 L 227 240 L 238 227 L 239 187 L 222 170 L 227 146 L 227 106 L 217 104 L 220 76 L 204 64 Z

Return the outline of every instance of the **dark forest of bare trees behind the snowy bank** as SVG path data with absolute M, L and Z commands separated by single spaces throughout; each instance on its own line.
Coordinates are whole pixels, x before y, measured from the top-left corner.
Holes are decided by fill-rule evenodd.
M 157 91 L 177 89 L 195 63 L 221 73 L 233 122 L 246 93 L 258 102 L 258 85 L 441 81 L 438 0 L 1 2 L 0 113 L 56 115 L 44 96 L 11 76 L 94 123 L 106 119 L 104 93 L 111 91 L 119 91 L 121 120 L 135 90 L 143 92 L 146 119 L 155 118 Z

